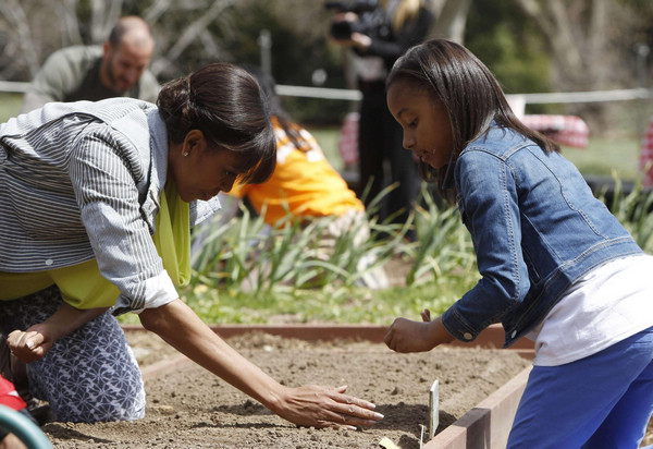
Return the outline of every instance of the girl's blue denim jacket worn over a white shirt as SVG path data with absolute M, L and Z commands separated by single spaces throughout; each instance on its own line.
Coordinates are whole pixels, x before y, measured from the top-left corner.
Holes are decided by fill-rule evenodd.
M 442 316 L 459 340 L 501 321 L 509 347 L 592 268 L 642 253 L 571 162 L 512 130 L 469 144 L 454 173 L 481 274 Z

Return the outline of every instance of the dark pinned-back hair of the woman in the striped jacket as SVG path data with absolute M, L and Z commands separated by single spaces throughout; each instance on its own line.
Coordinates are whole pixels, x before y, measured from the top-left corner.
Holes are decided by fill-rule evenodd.
M 261 183 L 274 171 L 276 144 L 264 96 L 247 71 L 217 62 L 163 85 L 157 106 L 174 144 L 192 130 L 204 133 L 210 148 L 226 148 L 243 158 L 243 183 Z

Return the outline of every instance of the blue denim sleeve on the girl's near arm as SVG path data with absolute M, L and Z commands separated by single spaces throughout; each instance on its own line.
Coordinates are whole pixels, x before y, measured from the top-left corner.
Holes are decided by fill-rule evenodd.
M 482 150 L 468 151 L 456 162 L 456 187 L 481 279 L 443 314 L 442 320 L 457 339 L 471 341 L 521 302 L 530 282 L 510 167 Z

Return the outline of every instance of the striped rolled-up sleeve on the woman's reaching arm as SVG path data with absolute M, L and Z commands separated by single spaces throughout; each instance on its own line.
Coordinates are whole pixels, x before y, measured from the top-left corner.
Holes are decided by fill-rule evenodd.
M 143 310 L 176 294 L 141 217 L 137 153 L 107 128 L 87 133 L 70 163 L 81 219 L 104 278 L 121 295 L 116 307 Z

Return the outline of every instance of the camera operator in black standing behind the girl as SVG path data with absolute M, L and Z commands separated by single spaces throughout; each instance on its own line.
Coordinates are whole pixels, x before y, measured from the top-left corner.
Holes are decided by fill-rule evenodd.
M 331 26 L 334 43 L 352 48 L 358 88 L 362 93 L 358 133 L 359 192 L 371 182 L 366 206 L 384 187 L 384 161 L 390 163 L 392 183 L 398 187 L 383 198 L 381 219 L 395 216 L 394 222 L 406 222 L 420 192 L 417 163 L 410 151 L 403 149 L 402 129 L 385 104 L 385 76 L 394 62 L 410 47 L 427 37 L 433 14 L 423 0 L 358 0 L 343 9 Z M 414 231 L 407 234 L 414 240 Z

